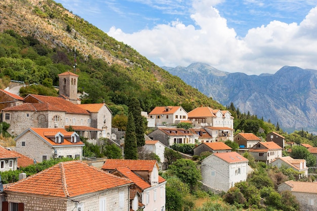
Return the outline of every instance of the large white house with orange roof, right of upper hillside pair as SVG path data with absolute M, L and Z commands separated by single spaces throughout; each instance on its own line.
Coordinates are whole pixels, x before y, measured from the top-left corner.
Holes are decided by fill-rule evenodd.
M 191 120 L 196 127 L 214 126 L 233 129 L 233 117 L 225 110 L 198 107 L 188 112 L 188 120 Z

